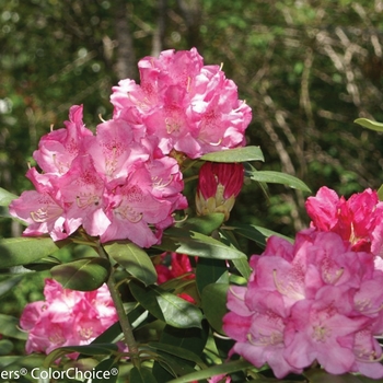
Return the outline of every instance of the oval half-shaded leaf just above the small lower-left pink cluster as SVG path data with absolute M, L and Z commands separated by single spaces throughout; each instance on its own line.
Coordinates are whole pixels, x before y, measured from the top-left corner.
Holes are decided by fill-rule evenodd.
M 92 291 L 106 282 L 109 271 L 107 259 L 89 257 L 55 266 L 50 274 L 65 289 Z

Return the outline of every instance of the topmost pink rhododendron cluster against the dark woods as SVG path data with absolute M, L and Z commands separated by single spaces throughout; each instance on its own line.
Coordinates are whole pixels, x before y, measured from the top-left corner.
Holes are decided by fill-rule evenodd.
M 176 150 L 197 159 L 244 146 L 251 108 L 219 66 L 204 66 L 196 48 L 164 50 L 138 67 L 140 84 L 126 79 L 113 88 L 114 118 L 132 121 L 134 114 L 136 129 L 159 137 L 164 154 Z

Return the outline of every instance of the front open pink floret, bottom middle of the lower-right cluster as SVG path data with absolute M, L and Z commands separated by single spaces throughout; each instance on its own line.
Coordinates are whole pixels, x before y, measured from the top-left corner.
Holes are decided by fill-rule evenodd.
M 341 374 L 355 363 L 356 334 L 370 323 L 367 317 L 349 317 L 351 291 L 323 288 L 315 300 L 302 300 L 291 310 L 285 333 L 287 361 L 305 368 L 315 360 L 329 373 Z

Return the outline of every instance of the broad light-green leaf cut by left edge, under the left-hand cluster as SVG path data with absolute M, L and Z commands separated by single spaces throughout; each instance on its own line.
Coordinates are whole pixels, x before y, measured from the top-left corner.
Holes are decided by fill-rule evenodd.
M 61 243 L 62 244 L 62 243 Z M 57 249 L 60 243 L 50 237 L 15 237 L 0 240 L 1 268 L 27 265 Z

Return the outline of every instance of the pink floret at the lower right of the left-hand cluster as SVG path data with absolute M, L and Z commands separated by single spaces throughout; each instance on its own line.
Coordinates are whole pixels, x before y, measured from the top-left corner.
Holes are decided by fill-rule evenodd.
M 141 247 L 159 243 L 162 228 L 173 222 L 172 202 L 155 198 L 151 189 L 149 172 L 138 164 L 125 185 L 109 192 L 107 216 L 112 223 L 101 235 L 102 242 L 129 239 Z

